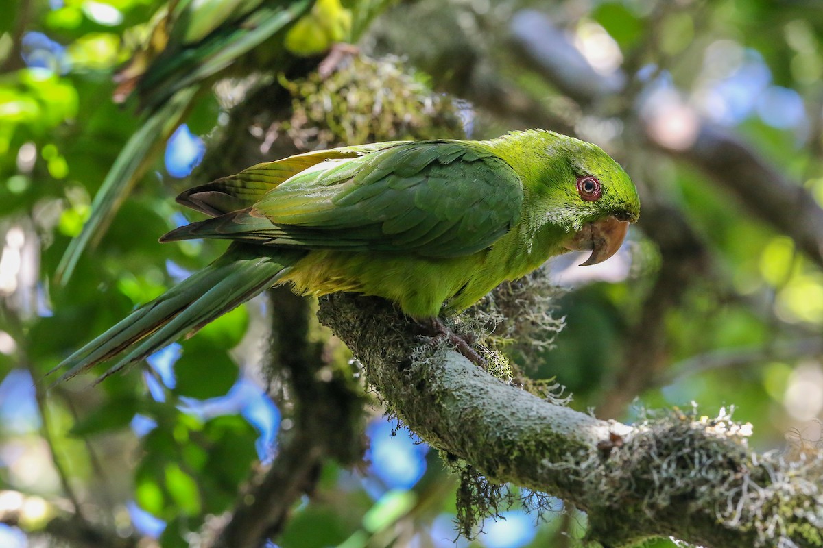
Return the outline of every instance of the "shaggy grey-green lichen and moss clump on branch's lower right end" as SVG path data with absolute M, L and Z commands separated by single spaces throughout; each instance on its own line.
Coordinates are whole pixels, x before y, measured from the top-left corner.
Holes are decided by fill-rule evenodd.
M 673 502 L 685 501 L 693 513 L 672 519 L 681 523 L 681 535 L 689 537 L 691 529 L 692 539 L 700 539 L 709 520 L 737 539 L 730 546 L 742 546 L 740 532 L 749 533 L 756 548 L 823 546 L 820 455 L 802 463 L 787 463 L 777 454 L 758 456 L 746 444 L 751 426 L 732 421 L 725 410 L 709 418 L 696 408 L 675 409 L 644 417 L 636 427 L 630 440 L 602 448 L 605 461 L 574 465 L 584 485 L 602 497 L 602 504 L 590 509 L 594 537 L 607 534 L 628 539 L 619 546 L 635 546 L 640 539 L 626 527 L 638 527 L 649 516 L 667 517 Z

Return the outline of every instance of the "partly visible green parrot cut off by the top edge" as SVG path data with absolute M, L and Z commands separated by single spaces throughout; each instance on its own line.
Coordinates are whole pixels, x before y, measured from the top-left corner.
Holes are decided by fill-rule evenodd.
M 377 8 L 363 17 L 373 17 Z M 117 102 L 137 98 L 142 125 L 114 160 L 90 218 L 67 247 L 58 282 L 67 282 L 86 246 L 105 233 L 199 93 L 226 76 L 272 66 L 285 70 L 295 55 L 323 53 L 348 38 L 351 13 L 340 0 L 170 0 L 149 26 L 146 43 L 115 77 L 114 91 Z

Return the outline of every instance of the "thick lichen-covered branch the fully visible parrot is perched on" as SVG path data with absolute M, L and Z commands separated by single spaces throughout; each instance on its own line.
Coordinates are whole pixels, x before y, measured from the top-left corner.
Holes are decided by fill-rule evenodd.
M 747 427 L 725 412 L 708 419 L 676 410 L 635 426 L 597 420 L 425 345 L 416 324 L 378 298 L 324 297 L 318 316 L 423 440 L 489 481 L 584 509 L 591 540 L 603 546 L 651 536 L 707 548 L 823 546 L 815 451 L 800 463 L 755 454 Z

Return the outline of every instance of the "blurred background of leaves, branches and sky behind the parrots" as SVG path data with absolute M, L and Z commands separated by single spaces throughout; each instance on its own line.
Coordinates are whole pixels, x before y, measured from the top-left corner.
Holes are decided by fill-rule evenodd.
M 602 265 L 547 266 L 565 329 L 515 359 L 598 417 L 733 406 L 756 449 L 819 444 L 820 2 L 319 2 L 317 29 L 346 13 L 355 23 L 316 51 L 284 48 L 203 83 L 65 284 L 58 262 L 146 119 L 136 99 L 114 103 L 112 77 L 164 2 L 5 2 L 0 546 L 211 546 L 243 486 L 299 430 L 295 375 L 272 366 L 268 342 L 287 297 L 258 297 L 94 387 L 85 376 L 47 389 L 44 374 L 219 254 L 213 242 L 157 244 L 196 218 L 176 192 L 344 143 L 543 127 L 601 145 L 639 187 L 642 219 Z M 335 40 L 359 52 L 317 76 Z M 300 336 L 323 347 L 314 380 L 345 376 L 360 398 L 368 449 L 359 465 L 321 459 L 312 495 L 268 546 L 580 545 L 585 516 L 559 500 L 542 514 L 500 509 L 474 540 L 458 538 L 458 480 L 437 451 L 384 416 L 339 343 L 316 325 Z

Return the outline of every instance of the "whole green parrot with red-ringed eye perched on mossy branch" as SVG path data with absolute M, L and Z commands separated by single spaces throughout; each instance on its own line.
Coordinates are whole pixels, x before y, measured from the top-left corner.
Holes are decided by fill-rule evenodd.
M 639 217 L 620 165 L 543 130 L 298 154 L 178 201 L 211 219 L 160 242 L 223 238 L 228 250 L 67 357 L 53 370 L 63 379 L 128 351 L 110 375 L 279 283 L 384 297 L 421 320 L 453 314 L 565 251 L 608 259 Z

